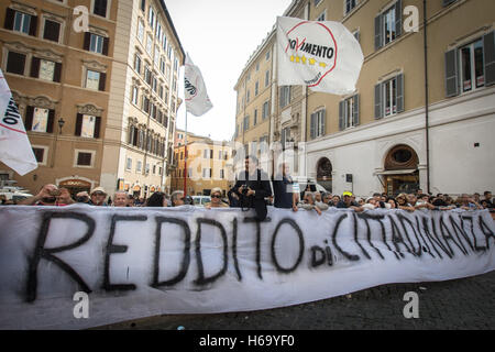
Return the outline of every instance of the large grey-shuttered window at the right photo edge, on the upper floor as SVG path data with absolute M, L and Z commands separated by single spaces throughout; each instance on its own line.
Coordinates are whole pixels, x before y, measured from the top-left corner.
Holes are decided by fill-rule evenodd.
M 494 32 L 446 53 L 446 96 L 495 84 Z

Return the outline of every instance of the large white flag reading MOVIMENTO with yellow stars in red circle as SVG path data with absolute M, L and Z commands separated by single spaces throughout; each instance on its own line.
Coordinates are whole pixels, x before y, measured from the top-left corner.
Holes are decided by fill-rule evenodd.
M 336 95 L 355 90 L 363 52 L 342 23 L 278 16 L 277 48 L 278 86 Z

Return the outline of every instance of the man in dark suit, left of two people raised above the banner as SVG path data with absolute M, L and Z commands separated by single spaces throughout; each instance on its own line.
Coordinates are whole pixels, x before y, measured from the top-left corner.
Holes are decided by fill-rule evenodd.
M 238 195 L 241 208 L 254 209 L 256 218 L 263 221 L 267 212 L 265 197 L 272 196 L 270 178 L 257 167 L 255 156 L 246 156 L 244 165 L 245 169 L 239 174 L 232 190 Z

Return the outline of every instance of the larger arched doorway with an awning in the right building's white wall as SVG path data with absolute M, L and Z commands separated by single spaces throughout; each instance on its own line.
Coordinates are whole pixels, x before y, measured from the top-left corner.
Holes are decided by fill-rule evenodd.
M 385 157 L 385 191 L 388 196 L 419 189 L 418 154 L 408 145 L 394 146 Z

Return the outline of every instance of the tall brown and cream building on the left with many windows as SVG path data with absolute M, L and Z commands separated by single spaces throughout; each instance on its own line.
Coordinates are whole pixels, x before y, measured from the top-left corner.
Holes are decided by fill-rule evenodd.
M 38 161 L 0 176 L 32 193 L 165 189 L 185 57 L 165 3 L 20 0 L 0 13 L 1 68 Z

